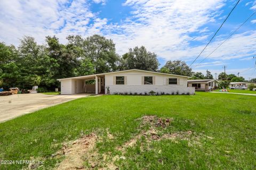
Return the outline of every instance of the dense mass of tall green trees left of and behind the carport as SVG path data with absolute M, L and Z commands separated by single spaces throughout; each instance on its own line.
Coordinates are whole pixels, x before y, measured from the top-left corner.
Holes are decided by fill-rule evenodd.
M 57 79 L 111 72 L 118 69 L 119 56 L 111 39 L 99 35 L 82 38 L 68 36 L 66 45 L 47 36 L 46 45 L 37 45 L 25 36 L 18 48 L 0 43 L 0 80 L 7 89 L 32 86 L 48 90 L 60 87 Z

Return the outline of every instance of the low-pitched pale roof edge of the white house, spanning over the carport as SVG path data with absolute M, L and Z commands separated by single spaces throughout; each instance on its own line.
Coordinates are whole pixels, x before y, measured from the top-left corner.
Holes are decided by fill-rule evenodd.
M 64 78 L 64 79 L 57 79 L 57 80 L 67 80 L 67 79 L 94 79 L 95 76 L 100 76 L 100 75 L 106 75 L 106 74 L 113 74 L 113 73 L 122 73 L 122 72 L 128 72 L 128 71 L 141 71 L 141 72 L 148 72 L 148 73 L 156 73 L 156 74 L 164 74 L 164 75 L 174 75 L 177 77 L 183 77 L 183 78 L 190 78 L 185 75 L 176 75 L 176 74 L 169 74 L 169 73 L 160 73 L 160 72 L 154 72 L 154 71 L 146 71 L 146 70 L 139 70 L 139 69 L 131 69 L 131 70 L 123 70 L 123 71 L 115 71 L 115 72 L 108 72 L 108 73 L 100 73 L 100 74 L 91 74 L 91 75 L 83 75 L 79 77 L 71 77 L 71 78 Z

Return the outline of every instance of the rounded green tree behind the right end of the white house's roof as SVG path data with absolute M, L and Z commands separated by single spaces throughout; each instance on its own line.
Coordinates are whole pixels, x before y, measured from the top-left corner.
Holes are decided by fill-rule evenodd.
M 169 73 L 171 74 L 177 74 L 177 75 L 186 75 L 191 76 L 192 75 L 192 69 L 189 68 L 189 66 L 184 61 L 167 61 L 164 65 L 164 68 L 162 67 L 160 71 L 163 70 L 169 70 Z

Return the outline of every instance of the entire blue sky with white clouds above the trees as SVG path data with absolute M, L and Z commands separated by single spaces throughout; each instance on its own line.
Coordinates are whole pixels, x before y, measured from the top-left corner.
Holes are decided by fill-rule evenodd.
M 68 35 L 95 33 L 114 40 L 119 55 L 135 46 L 146 46 L 158 56 L 161 66 L 168 60 L 191 64 L 237 1 L 222 0 L 58 0 L 0 1 L 0 41 L 19 45 L 23 36 L 56 35 L 66 43 Z M 222 41 L 256 11 L 256 1 L 241 1 L 218 35 L 192 65 L 193 71 L 212 74 L 240 72 L 255 78 L 256 14 L 206 60 Z M 199 64 L 200 63 L 200 64 Z M 161 67 L 160 66 L 160 67 Z

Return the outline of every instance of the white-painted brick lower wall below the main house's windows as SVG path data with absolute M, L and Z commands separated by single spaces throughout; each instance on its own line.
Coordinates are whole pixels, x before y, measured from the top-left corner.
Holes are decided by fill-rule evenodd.
M 145 92 L 149 92 L 151 90 L 161 93 L 164 92 L 165 94 L 172 94 L 174 92 L 178 91 L 179 94 L 189 92 L 190 95 L 195 94 L 195 88 L 194 87 L 184 87 L 182 85 L 138 85 L 138 86 L 128 86 L 128 85 L 109 85 L 109 91 L 110 94 L 115 94 L 115 93 L 125 93 L 127 92 L 130 94 L 132 92 L 137 92 L 137 94 L 145 94 Z M 106 90 L 107 91 L 107 90 Z

